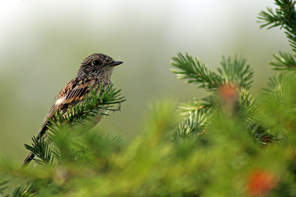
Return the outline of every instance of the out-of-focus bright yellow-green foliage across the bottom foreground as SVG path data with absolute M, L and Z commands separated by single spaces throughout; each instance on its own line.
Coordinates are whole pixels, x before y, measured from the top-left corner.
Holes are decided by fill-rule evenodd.
M 279 108 L 274 97 L 268 98 L 269 108 Z M 260 111 L 270 117 L 290 114 L 266 113 L 266 107 Z M 27 192 L 38 191 L 32 196 L 248 196 L 254 190 L 250 186 L 254 172 L 263 174 L 260 181 L 267 184 L 263 191 L 273 188 L 272 196 L 282 196 L 283 190 L 293 196 L 295 139 L 264 150 L 242 132 L 241 119 L 218 111 L 206 134 L 174 144 L 171 134 L 178 121 L 176 102 L 153 102 L 143 133 L 129 144 L 112 142 L 112 137 L 94 130 L 83 135 L 79 141 L 88 147 L 83 153 L 91 161 L 87 164 L 84 159 L 71 162 L 69 156 L 57 167 L 23 170 L 1 159 L 1 172 L 34 179 L 22 185 Z M 294 128 L 286 131 L 295 135 Z

